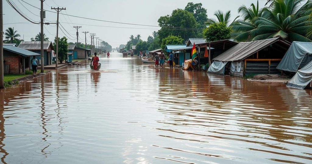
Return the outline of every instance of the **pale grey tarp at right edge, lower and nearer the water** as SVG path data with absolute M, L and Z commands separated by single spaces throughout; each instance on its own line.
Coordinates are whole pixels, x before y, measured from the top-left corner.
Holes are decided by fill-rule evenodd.
M 290 79 L 287 87 L 304 89 L 312 80 L 312 62 L 309 62 L 305 67 L 298 70 L 295 76 Z

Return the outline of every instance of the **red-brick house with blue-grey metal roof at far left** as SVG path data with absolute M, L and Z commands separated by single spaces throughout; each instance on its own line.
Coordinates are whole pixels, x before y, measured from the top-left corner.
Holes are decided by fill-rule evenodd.
M 25 69 L 31 67 L 30 60 L 40 54 L 15 46 L 3 45 L 4 73 L 25 74 Z

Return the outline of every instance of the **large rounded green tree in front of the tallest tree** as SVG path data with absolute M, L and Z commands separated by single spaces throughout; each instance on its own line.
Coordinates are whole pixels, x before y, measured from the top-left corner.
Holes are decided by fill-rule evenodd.
M 160 40 L 169 35 L 181 36 L 183 40 L 186 40 L 197 36 L 197 30 L 193 29 L 196 28 L 196 24 L 193 13 L 176 9 L 173 10 L 171 16 L 162 16 L 158 19 L 158 25 L 162 27 L 158 35 Z

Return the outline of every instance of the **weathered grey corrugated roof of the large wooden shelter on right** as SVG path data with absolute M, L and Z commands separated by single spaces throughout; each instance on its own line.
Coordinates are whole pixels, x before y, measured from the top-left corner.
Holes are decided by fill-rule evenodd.
M 285 45 L 290 46 L 290 42 L 285 41 L 280 37 L 259 40 L 254 42 L 240 42 L 236 44 L 234 47 L 228 49 L 226 52 L 223 52 L 218 57 L 215 57 L 213 60 L 222 61 L 222 62 L 232 62 L 243 60 L 250 55 L 258 52 L 259 50 L 270 46 L 275 42 L 283 42 Z

